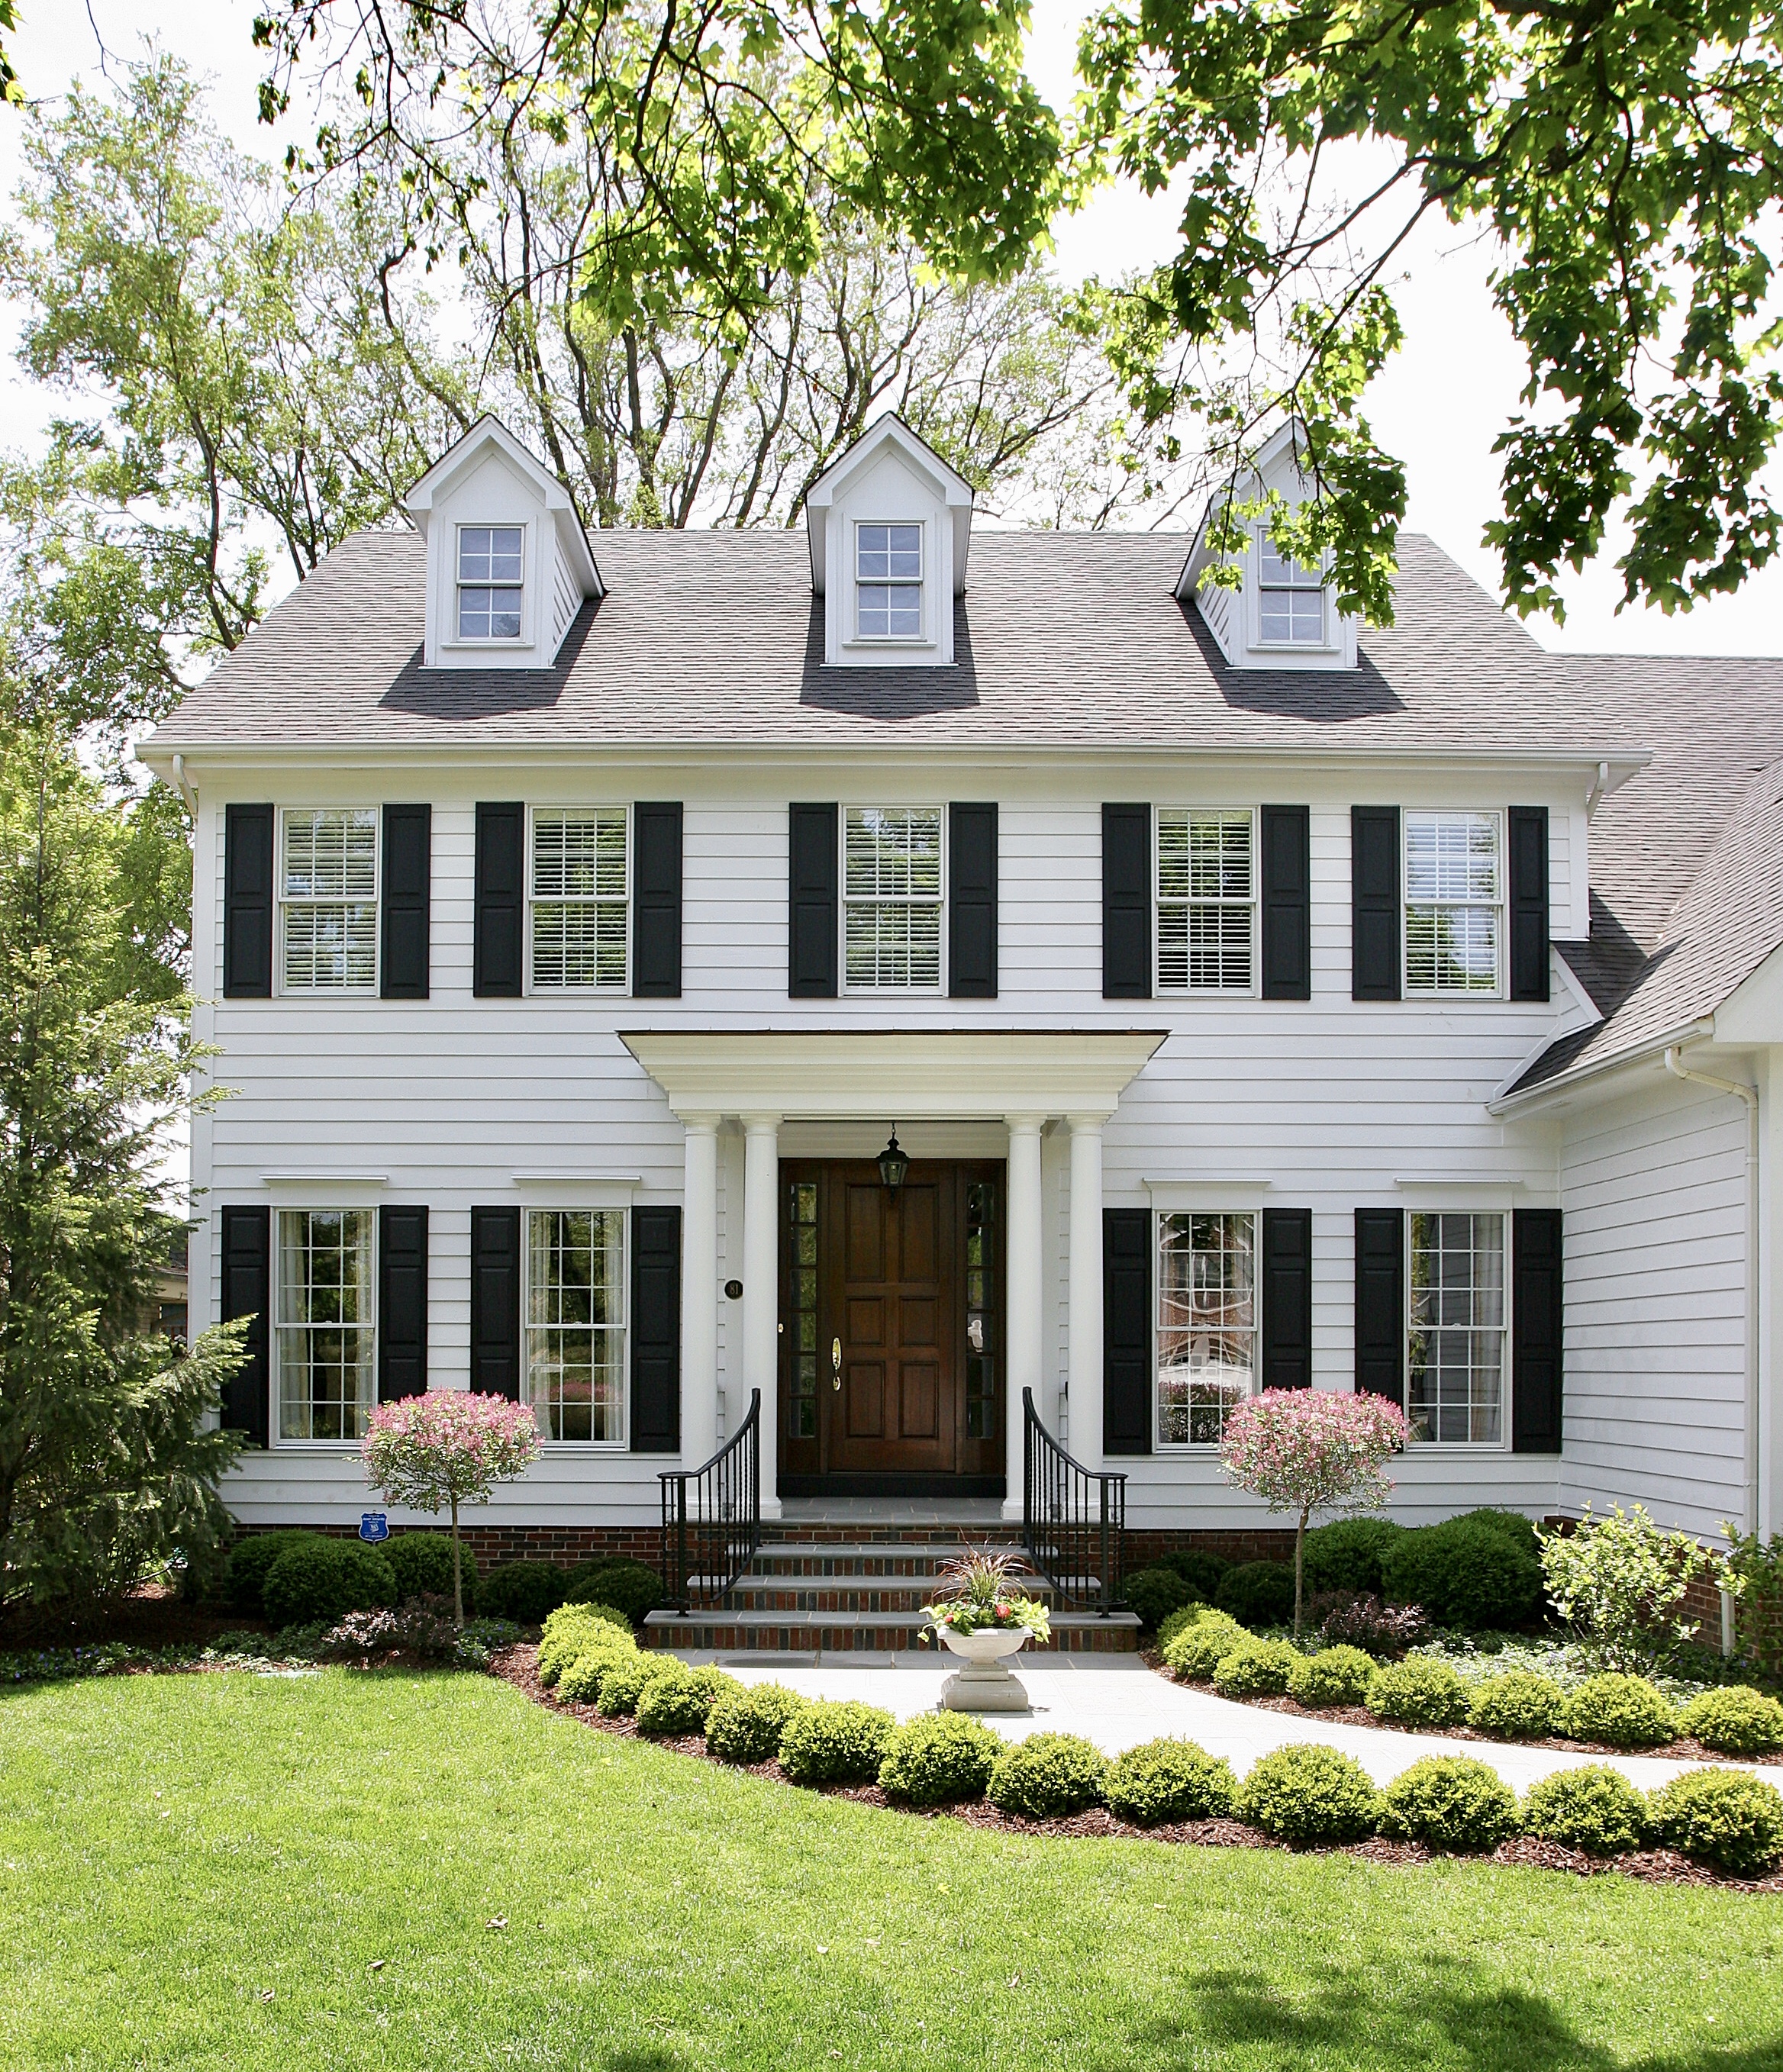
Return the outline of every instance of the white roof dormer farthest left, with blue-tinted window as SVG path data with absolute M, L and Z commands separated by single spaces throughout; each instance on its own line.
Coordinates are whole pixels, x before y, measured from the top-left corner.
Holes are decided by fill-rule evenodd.
M 408 491 L 427 543 L 429 669 L 545 669 L 601 572 L 568 489 L 493 416 Z

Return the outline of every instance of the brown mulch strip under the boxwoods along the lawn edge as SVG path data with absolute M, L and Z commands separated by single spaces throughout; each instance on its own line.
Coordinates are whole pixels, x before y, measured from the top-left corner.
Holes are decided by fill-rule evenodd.
M 672 1738 L 657 1740 L 655 1736 L 639 1734 L 636 1720 L 610 1718 L 593 1705 L 562 1703 L 556 1691 L 547 1691 L 545 1685 L 539 1682 L 539 1649 L 535 1643 L 520 1641 L 516 1647 L 504 1649 L 491 1662 L 491 1672 L 500 1676 L 502 1682 L 522 1691 L 535 1705 L 581 1720 L 583 1726 L 591 1726 L 599 1734 L 612 1734 L 616 1740 L 649 1740 L 651 1747 L 674 1749 L 676 1755 L 697 1755 L 711 1763 L 717 1761 L 715 1755 L 707 1755 L 703 1734 L 676 1734 Z M 1308 1714 L 1308 1718 L 1333 1718 L 1333 1714 Z M 1375 1724 L 1372 1716 L 1368 1716 L 1368 1724 Z M 1580 1745 L 1553 1743 L 1553 1747 L 1572 1749 Z M 790 1790 L 800 1788 L 794 1786 L 782 1772 L 780 1763 L 773 1761 L 746 1765 L 726 1763 L 721 1767 L 736 1769 L 740 1776 L 748 1778 L 765 1778 L 771 1784 L 786 1784 Z M 1088 1813 L 1074 1813 L 1070 1819 L 1022 1819 L 1018 1813 L 1001 1813 L 985 1798 L 952 1807 L 910 1807 L 898 1798 L 887 1798 L 877 1784 L 823 1784 L 817 1786 L 817 1790 L 825 1798 L 848 1798 L 852 1805 L 879 1807 L 887 1813 L 902 1813 L 906 1819 L 956 1819 L 966 1828 L 991 1828 L 999 1834 L 1035 1834 L 1047 1836 L 1049 1840 L 1173 1842 L 1196 1848 L 1287 1848 L 1285 1842 L 1275 1842 L 1258 1828 L 1246 1828 L 1240 1819 L 1169 1821 L 1161 1828 L 1134 1828 L 1130 1821 L 1115 1819 L 1115 1815 L 1105 1807 L 1095 1807 Z M 1366 1842 L 1350 1842 L 1343 1848 L 1308 1848 L 1298 1850 L 1296 1854 L 1358 1857 L 1362 1863 L 1389 1865 L 1431 1863 L 1435 1857 L 1435 1852 L 1424 1848 L 1420 1842 L 1389 1842 L 1385 1836 L 1372 1836 Z M 1559 1842 L 1540 1842 L 1534 1836 L 1518 1836 L 1511 1842 L 1501 1842 L 1493 1850 L 1491 1859 L 1484 1861 L 1503 1865 L 1534 1865 L 1543 1871 L 1572 1871 L 1578 1877 L 1601 1877 L 1615 1871 L 1623 1877 L 1640 1877 L 1646 1883 L 1657 1886 L 1721 1886 L 1727 1892 L 1783 1894 L 1783 1869 L 1773 1871 L 1771 1877 L 1721 1877 L 1719 1871 L 1692 1863 L 1688 1857 L 1679 1857 L 1669 1848 L 1648 1848 L 1634 1857 L 1586 1857 L 1582 1850 L 1563 1848 Z

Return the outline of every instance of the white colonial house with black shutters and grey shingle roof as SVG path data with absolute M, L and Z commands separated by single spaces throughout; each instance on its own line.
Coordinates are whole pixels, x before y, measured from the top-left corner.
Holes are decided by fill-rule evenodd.
M 1014 1519 L 1032 1392 L 1234 1535 L 1312 1386 L 1408 1521 L 1783 1525 L 1783 667 L 1545 655 L 1418 537 L 1377 630 L 1263 535 L 974 530 L 898 419 L 802 530 L 591 541 L 493 421 L 408 516 L 141 750 L 243 1523 L 352 1527 L 423 1386 L 535 1407 L 508 1548 L 755 1390 L 767 1519 Z

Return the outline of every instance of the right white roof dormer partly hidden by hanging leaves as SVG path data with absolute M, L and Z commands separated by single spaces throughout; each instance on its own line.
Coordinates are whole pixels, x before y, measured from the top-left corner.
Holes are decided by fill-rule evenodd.
M 1227 591 L 1211 576 L 1219 557 L 1209 549 L 1207 535 L 1227 495 L 1252 503 L 1273 489 L 1298 508 L 1312 493 L 1300 470 L 1302 441 L 1296 425 L 1283 425 L 1256 456 L 1256 470 L 1209 503 L 1176 584 L 1178 597 L 1194 599 L 1234 669 L 1356 667 L 1354 613 L 1337 609 L 1337 588 L 1325 570 L 1300 568 L 1277 549 L 1263 520 L 1248 522 L 1244 586 Z

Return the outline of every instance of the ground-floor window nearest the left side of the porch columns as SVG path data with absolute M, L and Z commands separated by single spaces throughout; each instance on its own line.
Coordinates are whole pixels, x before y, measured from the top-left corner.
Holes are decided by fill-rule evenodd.
M 527 1212 L 527 1401 L 545 1438 L 626 1436 L 626 1214 Z

